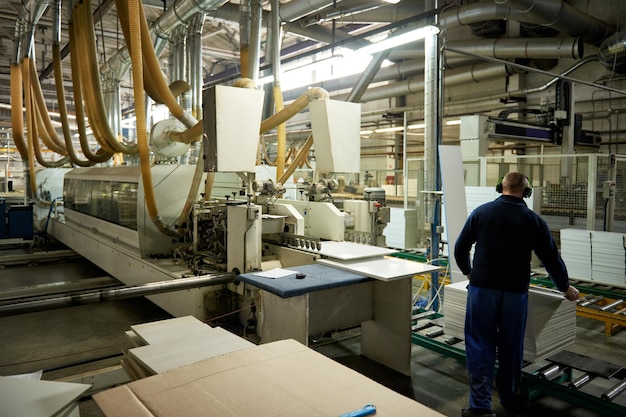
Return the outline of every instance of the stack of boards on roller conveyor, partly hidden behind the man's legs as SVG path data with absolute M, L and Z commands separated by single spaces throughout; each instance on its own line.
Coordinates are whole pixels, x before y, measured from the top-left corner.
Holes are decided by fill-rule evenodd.
M 446 285 L 443 311 L 445 334 L 465 339 L 468 281 Z M 531 287 L 524 337 L 524 359 L 529 362 L 560 352 L 576 338 L 576 303 L 553 290 Z

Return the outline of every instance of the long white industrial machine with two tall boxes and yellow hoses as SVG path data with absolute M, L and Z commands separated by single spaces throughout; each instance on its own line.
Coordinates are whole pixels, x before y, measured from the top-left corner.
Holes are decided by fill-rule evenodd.
M 285 187 L 256 167 L 262 92 L 216 86 L 204 99 L 210 105 L 200 167 L 156 164 L 150 190 L 140 166 L 42 170 L 38 193 L 49 204 L 36 211 L 38 227 L 126 285 L 213 274 L 232 280 L 312 263 L 323 241 L 384 246 L 384 191 L 367 190 L 364 200 L 331 198 L 334 174 L 359 171 L 358 104 L 310 104 L 319 178 L 296 200 L 283 198 Z M 176 129 L 182 127 L 173 124 L 159 134 L 175 135 Z M 148 192 L 156 208 L 149 206 Z M 217 280 L 149 298 L 173 315 L 207 319 L 223 291 L 237 303 L 249 305 L 256 297 Z

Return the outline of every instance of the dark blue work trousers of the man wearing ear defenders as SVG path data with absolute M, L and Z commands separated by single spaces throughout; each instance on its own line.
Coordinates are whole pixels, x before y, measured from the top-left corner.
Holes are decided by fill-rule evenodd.
M 496 358 L 496 389 L 503 405 L 515 404 L 524 360 L 528 294 L 469 286 L 465 314 L 465 348 L 470 385 L 469 405 L 491 410 Z

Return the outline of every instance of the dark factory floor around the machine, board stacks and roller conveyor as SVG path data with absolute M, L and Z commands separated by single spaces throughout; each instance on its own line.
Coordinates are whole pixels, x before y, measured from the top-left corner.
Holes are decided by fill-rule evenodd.
M 9 253 L 9 250 L 0 247 L 0 299 L 16 287 L 32 288 L 36 284 L 50 287 L 55 282 L 74 282 L 106 275 L 89 262 L 74 257 L 4 265 L 3 255 Z M 54 380 L 119 364 L 122 349 L 130 347 L 124 332 L 131 325 L 169 317 L 145 298 L 0 316 L 0 375 L 43 369 L 43 378 Z M 410 377 L 360 356 L 358 337 L 320 345 L 315 349 L 445 416 L 460 416 L 461 407 L 467 405 L 468 385 L 464 364 L 428 348 L 413 345 Z M 579 317 L 576 341 L 568 350 L 626 367 L 626 330 L 606 336 L 602 323 Z M 534 400 L 528 410 L 517 414 L 505 413 L 496 397 L 494 409 L 498 416 L 607 415 L 546 396 Z M 80 412 L 83 417 L 102 416 L 89 398 L 81 401 Z

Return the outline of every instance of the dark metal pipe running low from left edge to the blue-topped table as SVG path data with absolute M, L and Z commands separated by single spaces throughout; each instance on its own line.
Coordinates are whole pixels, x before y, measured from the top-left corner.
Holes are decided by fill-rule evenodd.
M 132 287 L 102 289 L 82 294 L 67 294 L 43 300 L 40 299 L 5 304 L 0 306 L 0 316 L 221 285 L 231 282 L 234 277 L 234 273 L 227 272 L 223 274 L 202 275 L 197 277 L 172 279 L 169 281 L 150 282 Z

